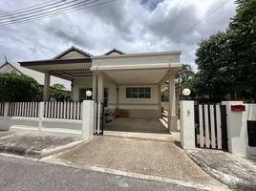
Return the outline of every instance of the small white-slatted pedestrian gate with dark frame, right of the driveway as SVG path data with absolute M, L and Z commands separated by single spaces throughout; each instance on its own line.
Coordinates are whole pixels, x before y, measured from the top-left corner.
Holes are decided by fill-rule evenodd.
M 195 136 L 197 147 L 227 151 L 225 106 L 195 105 Z

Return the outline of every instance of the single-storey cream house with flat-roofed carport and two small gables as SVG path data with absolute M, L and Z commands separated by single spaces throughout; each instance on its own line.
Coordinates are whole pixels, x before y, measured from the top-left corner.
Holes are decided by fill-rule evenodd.
M 169 81 L 169 129 L 176 129 L 175 80 L 181 68 L 180 51 L 122 53 L 116 49 L 102 55 L 75 47 L 52 59 L 22 61 L 22 67 L 44 73 L 44 100 L 49 100 L 50 76 L 72 82 L 72 99 L 94 99 L 105 108 L 129 111 L 129 117 L 158 118 L 160 87 Z M 92 91 L 92 97 L 86 91 Z

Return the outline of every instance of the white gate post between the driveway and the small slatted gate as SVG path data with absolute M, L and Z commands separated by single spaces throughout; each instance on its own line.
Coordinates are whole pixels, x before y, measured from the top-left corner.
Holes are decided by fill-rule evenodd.
M 194 101 L 182 100 L 181 107 L 181 147 L 183 149 L 195 148 L 195 111 Z

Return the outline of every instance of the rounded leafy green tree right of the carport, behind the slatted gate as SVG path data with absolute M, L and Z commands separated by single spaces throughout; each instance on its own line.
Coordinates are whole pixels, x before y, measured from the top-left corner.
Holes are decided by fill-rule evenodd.
M 197 74 L 196 89 L 199 95 L 224 99 L 226 94 L 236 91 L 234 74 L 234 53 L 232 52 L 232 33 L 218 32 L 200 42 L 196 52 Z

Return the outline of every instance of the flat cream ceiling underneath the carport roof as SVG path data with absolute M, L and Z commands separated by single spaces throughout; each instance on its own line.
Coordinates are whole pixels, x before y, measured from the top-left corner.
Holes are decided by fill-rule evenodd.
M 117 84 L 158 84 L 166 74 L 166 69 L 104 71 L 104 74 L 115 80 Z

